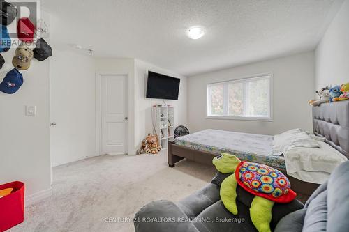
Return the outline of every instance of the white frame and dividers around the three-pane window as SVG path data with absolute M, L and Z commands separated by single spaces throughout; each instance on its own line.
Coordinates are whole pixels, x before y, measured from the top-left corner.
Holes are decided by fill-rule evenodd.
M 253 80 L 253 79 L 258 79 L 258 78 L 263 78 L 263 77 L 269 77 L 269 117 L 256 117 L 256 116 L 227 116 L 228 114 L 228 107 L 223 107 L 223 116 L 219 116 L 219 115 L 214 115 L 214 116 L 210 116 L 209 115 L 209 111 L 211 111 L 210 107 L 211 104 L 209 104 L 209 102 L 211 102 L 211 96 L 209 93 L 209 87 L 210 86 L 215 86 L 215 85 L 220 85 L 220 84 L 228 84 L 228 83 L 234 83 L 234 82 L 246 82 L 248 80 Z M 246 87 L 247 85 L 245 85 Z M 206 98 L 206 118 L 207 119 L 228 119 L 228 120 L 246 120 L 246 121 L 273 121 L 273 74 L 272 72 L 268 72 L 268 73 L 262 73 L 262 74 L 258 74 L 258 75 L 253 75 L 253 76 L 248 76 L 248 77 L 240 77 L 239 79 L 230 79 L 230 80 L 224 80 L 222 82 L 214 82 L 214 83 L 208 83 L 206 86 L 206 94 L 207 94 L 207 98 Z M 247 91 L 244 91 L 244 93 L 247 93 Z M 225 96 L 228 95 L 228 86 L 224 85 L 224 93 Z M 244 97 L 243 98 L 244 101 L 246 101 L 247 99 Z M 224 105 L 228 106 L 228 98 L 224 98 Z M 246 102 L 244 102 L 244 104 L 246 104 Z M 244 107 L 244 109 L 247 109 L 247 107 Z

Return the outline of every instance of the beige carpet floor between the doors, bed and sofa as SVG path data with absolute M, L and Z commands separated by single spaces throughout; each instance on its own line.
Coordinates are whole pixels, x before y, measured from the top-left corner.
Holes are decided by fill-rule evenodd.
M 184 160 L 170 168 L 167 154 L 101 155 L 52 169 L 53 194 L 26 208 L 15 231 L 134 231 L 144 204 L 179 201 L 209 183 L 214 167 Z M 121 222 L 105 222 L 114 217 Z

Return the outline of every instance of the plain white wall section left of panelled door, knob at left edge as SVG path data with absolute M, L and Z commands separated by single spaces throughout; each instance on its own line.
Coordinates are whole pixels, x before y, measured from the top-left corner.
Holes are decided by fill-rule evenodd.
M 96 155 L 95 61 L 53 50 L 51 58 L 52 167 Z

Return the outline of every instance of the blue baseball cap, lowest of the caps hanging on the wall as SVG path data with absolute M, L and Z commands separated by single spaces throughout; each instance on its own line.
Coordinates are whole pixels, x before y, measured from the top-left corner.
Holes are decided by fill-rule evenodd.
M 0 83 L 0 91 L 3 93 L 12 94 L 17 92 L 22 84 L 22 74 L 17 69 L 13 68 L 13 70 L 10 70 L 10 72 L 6 74 L 3 81 Z

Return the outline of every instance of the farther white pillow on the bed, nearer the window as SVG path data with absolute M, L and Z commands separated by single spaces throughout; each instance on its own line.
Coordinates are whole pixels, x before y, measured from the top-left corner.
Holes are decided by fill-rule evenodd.
M 302 129 L 292 129 L 281 134 L 276 134 L 273 140 L 273 155 L 282 155 L 289 146 L 301 146 L 306 148 L 319 148 L 320 137 Z

